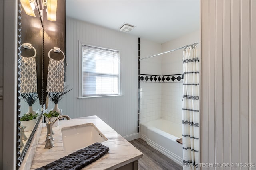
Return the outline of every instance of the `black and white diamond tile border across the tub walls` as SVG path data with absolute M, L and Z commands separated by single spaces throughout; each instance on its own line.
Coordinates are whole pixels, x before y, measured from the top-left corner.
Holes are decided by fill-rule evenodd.
M 170 74 L 170 75 L 149 75 L 140 74 L 140 82 L 154 82 L 154 83 L 174 83 L 183 82 L 183 74 Z

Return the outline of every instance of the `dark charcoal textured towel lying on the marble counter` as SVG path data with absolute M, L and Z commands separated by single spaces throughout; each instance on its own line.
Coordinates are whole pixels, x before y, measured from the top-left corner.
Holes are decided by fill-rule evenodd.
M 104 156 L 108 151 L 108 147 L 96 142 L 36 170 L 80 170 Z

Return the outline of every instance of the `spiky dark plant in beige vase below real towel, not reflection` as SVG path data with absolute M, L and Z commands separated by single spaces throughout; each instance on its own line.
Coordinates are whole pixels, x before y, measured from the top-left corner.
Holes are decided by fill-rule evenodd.
M 49 100 L 54 102 L 55 106 L 54 109 L 52 111 L 57 111 L 58 113 L 60 113 L 60 109 L 58 108 L 58 102 L 64 97 L 64 94 L 66 94 L 67 92 L 69 92 L 72 89 L 69 89 L 70 85 L 68 86 L 64 86 L 64 90 L 63 92 L 49 92 Z

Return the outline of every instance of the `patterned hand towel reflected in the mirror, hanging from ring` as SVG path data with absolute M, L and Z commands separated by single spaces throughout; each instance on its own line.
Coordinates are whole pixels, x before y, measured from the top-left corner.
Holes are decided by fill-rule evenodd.
M 20 56 L 20 92 L 37 92 L 36 59 Z

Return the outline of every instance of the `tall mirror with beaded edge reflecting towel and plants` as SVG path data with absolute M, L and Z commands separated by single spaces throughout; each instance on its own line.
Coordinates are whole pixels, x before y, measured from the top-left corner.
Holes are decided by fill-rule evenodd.
M 30 145 L 35 127 L 39 124 L 42 117 L 42 36 L 43 25 L 38 10 L 38 1 L 31 1 L 34 6 L 34 14 L 26 14 L 26 0 L 20 0 L 20 145 L 17 146 L 20 151 L 17 165 L 22 162 L 26 151 Z M 29 2 L 29 1 L 28 1 Z M 32 15 L 32 16 L 31 16 Z M 18 152 L 17 150 L 17 152 Z

